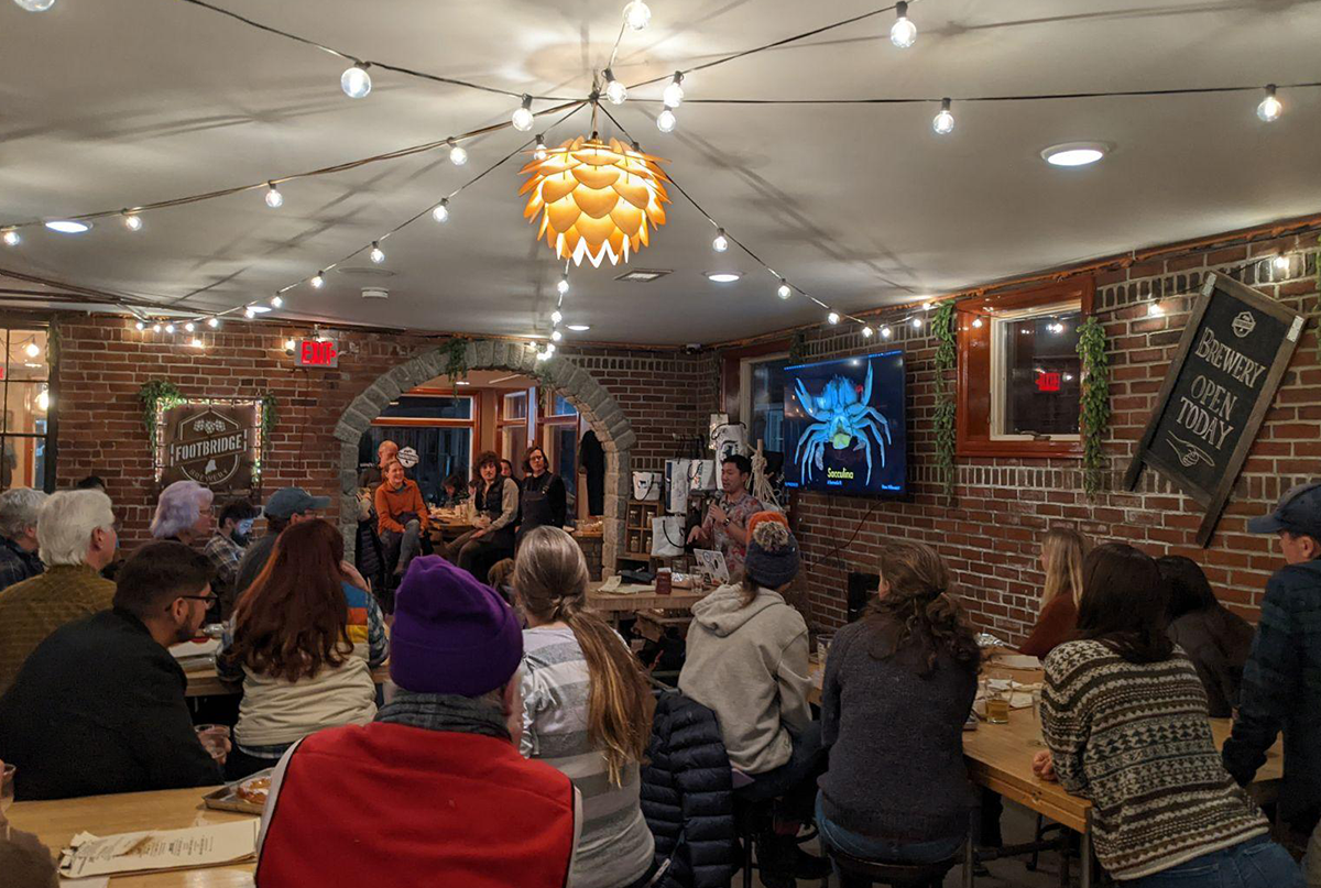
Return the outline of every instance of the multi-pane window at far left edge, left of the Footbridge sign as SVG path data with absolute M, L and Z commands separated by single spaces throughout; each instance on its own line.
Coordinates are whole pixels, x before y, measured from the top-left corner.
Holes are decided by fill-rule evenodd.
M 49 459 L 50 366 L 44 329 L 3 329 L 4 423 L 0 426 L 0 488 L 54 489 Z

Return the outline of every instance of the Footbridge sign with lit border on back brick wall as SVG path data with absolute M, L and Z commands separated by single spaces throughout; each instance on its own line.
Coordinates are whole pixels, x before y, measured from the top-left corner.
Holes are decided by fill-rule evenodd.
M 256 461 L 259 406 L 185 403 L 161 423 L 161 485 L 197 481 L 217 493 L 247 494 Z

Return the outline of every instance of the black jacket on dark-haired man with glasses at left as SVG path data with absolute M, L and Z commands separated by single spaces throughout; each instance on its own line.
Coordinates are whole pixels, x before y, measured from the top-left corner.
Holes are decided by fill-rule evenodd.
M 193 731 L 188 679 L 127 610 L 61 626 L 0 698 L 0 758 L 17 801 L 209 786 L 221 769 Z

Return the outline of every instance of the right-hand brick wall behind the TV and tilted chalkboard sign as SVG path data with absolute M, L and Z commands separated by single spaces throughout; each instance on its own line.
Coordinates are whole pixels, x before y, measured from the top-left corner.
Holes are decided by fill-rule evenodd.
M 1314 314 L 1317 231 L 1281 239 L 1221 243 L 1159 260 L 1102 271 L 1095 311 L 1106 328 L 1112 366 L 1112 429 L 1106 444 L 1106 492 L 1089 500 L 1077 460 L 959 459 L 954 503 L 937 484 L 934 436 L 935 345 L 925 329 L 896 325 L 909 371 L 909 478 L 906 502 L 803 493 L 798 529 L 810 564 L 811 620 L 844 620 L 845 574 L 875 571 L 886 538 L 927 542 L 948 560 L 975 618 L 997 634 L 1021 640 L 1038 609 L 1042 575 L 1038 540 L 1054 523 L 1071 525 L 1094 539 L 1123 539 L 1155 556 L 1188 555 L 1205 570 L 1226 604 L 1255 621 L 1266 579 L 1283 562 L 1273 538 L 1246 533 L 1247 518 L 1267 511 L 1283 490 L 1321 476 L 1321 367 L 1317 333 L 1309 324 L 1266 424 L 1234 486 L 1207 548 L 1197 547 L 1199 507 L 1148 469 L 1137 489 L 1120 490 L 1136 440 L 1145 428 L 1168 365 L 1188 321 L 1192 297 L 1210 270 Z M 1269 258 L 1291 251 L 1288 271 Z M 1160 300 L 1162 317 L 1148 316 Z M 889 320 L 893 322 L 892 316 Z M 875 322 L 885 322 L 880 314 Z M 811 359 L 877 350 L 855 332 L 808 334 Z M 952 382 L 952 377 L 951 377 Z

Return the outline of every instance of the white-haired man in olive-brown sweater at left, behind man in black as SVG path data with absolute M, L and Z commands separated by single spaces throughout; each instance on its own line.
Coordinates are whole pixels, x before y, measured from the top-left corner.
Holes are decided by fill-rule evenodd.
M 115 584 L 100 576 L 119 543 L 104 493 L 52 494 L 37 513 L 37 543 L 46 571 L 0 592 L 0 694 L 50 633 L 115 597 Z

